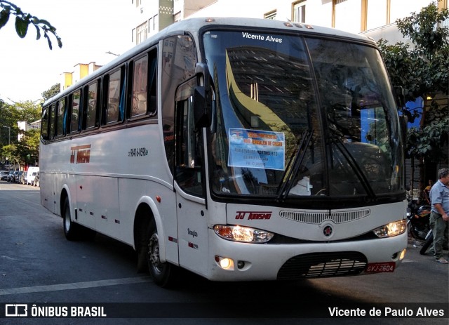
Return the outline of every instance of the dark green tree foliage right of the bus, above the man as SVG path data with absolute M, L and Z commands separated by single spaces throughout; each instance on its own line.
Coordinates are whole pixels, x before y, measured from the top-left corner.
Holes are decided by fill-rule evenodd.
M 448 106 L 438 105 L 435 95 L 449 93 L 449 28 L 442 22 L 449 18 L 447 8 L 438 11 L 435 2 L 419 13 L 396 20 L 399 31 L 409 43 L 388 44 L 378 41 L 382 57 L 394 86 L 404 89 L 406 100 L 433 98 L 424 113 L 424 127 L 408 131 L 410 156 L 433 161 L 448 158 L 442 148 L 448 144 Z

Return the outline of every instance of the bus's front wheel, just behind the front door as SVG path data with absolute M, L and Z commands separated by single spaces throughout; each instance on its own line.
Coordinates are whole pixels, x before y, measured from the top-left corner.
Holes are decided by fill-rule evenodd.
M 177 267 L 170 263 L 162 263 L 159 256 L 159 234 L 156 223 L 152 219 L 149 223 L 149 242 L 147 250 L 147 263 L 149 274 L 158 286 L 168 288 L 176 283 Z

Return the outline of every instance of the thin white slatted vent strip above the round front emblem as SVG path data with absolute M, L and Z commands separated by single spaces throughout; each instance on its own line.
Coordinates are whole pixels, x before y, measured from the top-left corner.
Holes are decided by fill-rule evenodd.
M 297 221 L 298 223 L 311 223 L 321 225 L 323 221 L 333 221 L 333 223 L 349 223 L 350 221 L 365 218 L 370 215 L 371 210 L 365 208 L 356 211 L 335 211 L 335 212 L 306 212 L 306 211 L 287 211 L 279 212 L 282 218 Z

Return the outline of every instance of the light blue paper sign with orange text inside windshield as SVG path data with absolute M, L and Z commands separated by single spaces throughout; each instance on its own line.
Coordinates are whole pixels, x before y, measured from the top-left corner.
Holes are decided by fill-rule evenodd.
M 283 171 L 284 133 L 229 128 L 228 166 Z

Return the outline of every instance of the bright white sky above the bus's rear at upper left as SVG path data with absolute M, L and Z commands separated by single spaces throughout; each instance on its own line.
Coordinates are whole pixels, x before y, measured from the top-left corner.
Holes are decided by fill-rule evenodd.
M 56 28 L 62 48 L 50 35 L 53 50 L 36 28 L 25 39 L 15 32 L 15 16 L 0 29 L 0 98 L 5 102 L 36 101 L 60 82 L 60 74 L 73 72 L 77 63 L 105 65 L 130 48 L 130 30 L 123 15 L 127 0 L 8 0 L 25 13 L 45 19 Z

